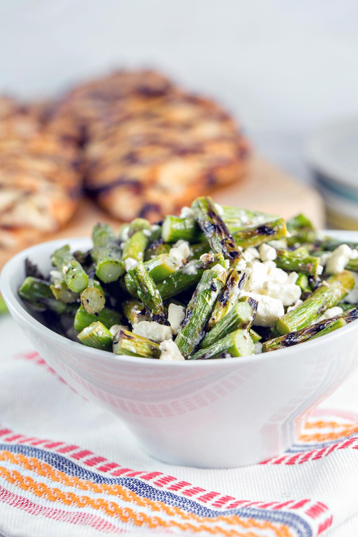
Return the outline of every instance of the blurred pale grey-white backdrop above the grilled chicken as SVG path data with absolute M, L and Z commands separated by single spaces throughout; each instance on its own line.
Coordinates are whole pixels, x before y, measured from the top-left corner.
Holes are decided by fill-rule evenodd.
M 157 67 L 221 100 L 306 181 L 306 134 L 358 112 L 357 62 L 357 0 L 0 0 L 0 90 L 42 97 Z

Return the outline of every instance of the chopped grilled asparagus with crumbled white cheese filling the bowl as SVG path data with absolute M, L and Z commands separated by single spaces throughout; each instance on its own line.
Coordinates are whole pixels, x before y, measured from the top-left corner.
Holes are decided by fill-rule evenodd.
M 93 248 L 53 252 L 43 275 L 26 260 L 18 293 L 43 324 L 83 345 L 159 360 L 269 352 L 358 318 L 357 244 L 282 218 L 193 201 L 119 234 L 103 223 Z

